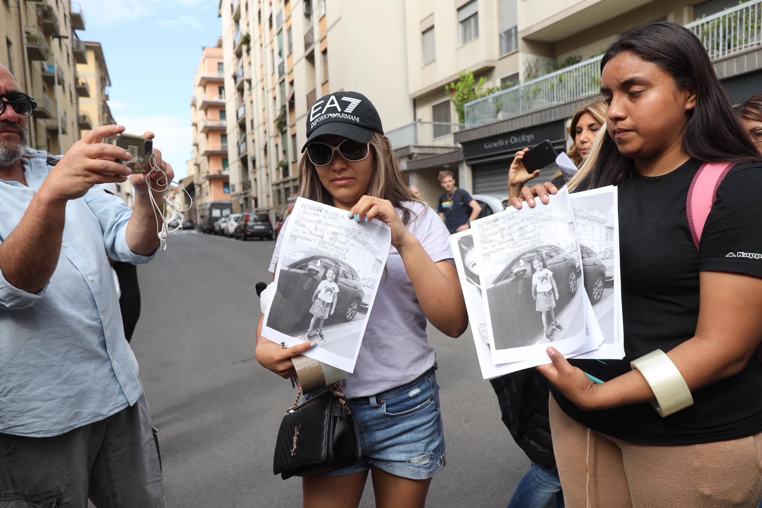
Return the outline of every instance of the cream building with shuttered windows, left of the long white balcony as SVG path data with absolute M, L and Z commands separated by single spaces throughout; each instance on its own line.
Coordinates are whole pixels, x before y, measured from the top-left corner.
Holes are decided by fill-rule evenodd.
M 405 0 L 408 96 L 415 123 L 389 133 L 411 185 L 436 206 L 439 171 L 472 191 L 471 171 L 454 134 L 464 128 L 445 85 L 473 72 L 485 88 L 519 80 L 517 0 Z

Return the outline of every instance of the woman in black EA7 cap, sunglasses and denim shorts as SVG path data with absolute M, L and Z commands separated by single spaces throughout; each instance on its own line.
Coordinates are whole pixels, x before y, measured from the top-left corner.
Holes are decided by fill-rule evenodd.
M 449 234 L 437 212 L 411 193 L 367 97 L 341 91 L 320 98 L 307 120 L 307 138 L 299 196 L 346 211 L 360 231 L 366 222 L 383 222 L 392 247 L 354 373 L 342 382 L 363 457 L 357 465 L 304 477 L 304 506 L 358 506 L 369 471 L 379 506 L 424 506 L 431 478 L 445 463 L 426 321 L 450 337 L 468 326 Z M 261 327 L 262 320 L 257 360 L 284 378 L 294 374 L 290 358 L 317 346 L 308 341 L 281 348 L 261 336 Z

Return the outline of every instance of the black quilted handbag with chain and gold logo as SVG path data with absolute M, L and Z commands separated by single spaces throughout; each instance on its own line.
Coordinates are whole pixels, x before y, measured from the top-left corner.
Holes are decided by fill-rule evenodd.
M 280 422 L 273 474 L 319 476 L 360 462 L 360 433 L 338 383 L 296 402 Z

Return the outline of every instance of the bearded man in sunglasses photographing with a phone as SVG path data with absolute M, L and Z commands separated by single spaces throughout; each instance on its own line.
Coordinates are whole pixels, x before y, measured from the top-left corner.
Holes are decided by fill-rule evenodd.
M 114 161 L 130 154 L 101 143 L 123 126 L 92 129 L 60 158 L 30 149 L 36 105 L 0 65 L 0 506 L 164 506 L 107 259 L 158 250 L 156 179 L 132 177 L 134 210 L 95 185 L 130 177 Z

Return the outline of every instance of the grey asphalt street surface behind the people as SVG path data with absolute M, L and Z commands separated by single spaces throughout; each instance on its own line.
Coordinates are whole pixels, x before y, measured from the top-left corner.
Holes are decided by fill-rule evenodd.
M 139 267 L 142 312 L 133 350 L 159 430 L 168 508 L 301 506 L 299 478 L 272 472 L 290 382 L 257 363 L 255 283 L 274 242 L 194 231 Z M 471 331 L 453 339 L 429 329 L 437 348 L 447 467 L 427 506 L 506 506 L 530 466 L 481 379 Z M 360 506 L 374 506 L 367 483 Z

